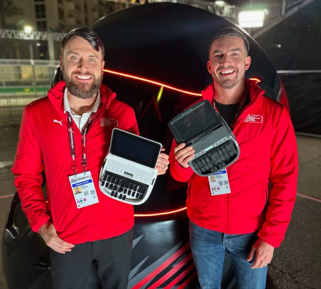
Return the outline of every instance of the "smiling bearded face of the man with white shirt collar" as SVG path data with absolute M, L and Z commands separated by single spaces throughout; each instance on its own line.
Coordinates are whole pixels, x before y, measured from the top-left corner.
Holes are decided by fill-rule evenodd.
M 68 92 L 82 99 L 94 96 L 100 88 L 104 64 L 101 51 L 96 51 L 82 37 L 72 37 L 60 57 Z

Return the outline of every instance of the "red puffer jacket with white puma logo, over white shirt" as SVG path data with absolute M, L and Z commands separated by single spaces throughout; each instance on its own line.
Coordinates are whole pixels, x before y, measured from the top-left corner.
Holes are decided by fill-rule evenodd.
M 12 172 L 15 186 L 31 229 L 51 221 L 63 240 L 79 244 L 114 237 L 130 230 L 134 209 L 105 196 L 99 189 L 100 167 L 114 127 L 138 134 L 134 110 L 115 99 L 116 94 L 101 85 L 101 104 L 87 133 L 87 170 L 91 171 L 99 203 L 77 209 L 68 176 L 73 175 L 64 114 L 65 82 L 57 83 L 48 96 L 31 102 L 23 112 L 17 154 Z M 61 124 L 53 122 L 56 119 Z M 78 172 L 81 172 L 82 135 L 74 124 Z M 45 170 L 47 201 L 41 190 Z

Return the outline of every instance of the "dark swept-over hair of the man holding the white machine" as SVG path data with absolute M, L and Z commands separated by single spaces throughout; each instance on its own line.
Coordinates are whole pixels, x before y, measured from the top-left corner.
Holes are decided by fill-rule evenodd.
M 96 51 L 101 51 L 101 55 L 102 55 L 102 59 L 104 60 L 104 56 L 105 56 L 105 48 L 104 48 L 104 44 L 102 43 L 100 37 L 98 36 L 98 34 L 89 29 L 89 28 L 76 28 L 72 31 L 70 31 L 65 37 L 64 39 L 62 39 L 61 44 L 60 44 L 60 55 L 63 56 L 63 52 L 64 52 L 64 48 L 67 44 L 67 42 L 72 39 L 74 36 L 78 36 L 81 37 L 85 40 L 87 40 L 91 47 L 94 48 Z

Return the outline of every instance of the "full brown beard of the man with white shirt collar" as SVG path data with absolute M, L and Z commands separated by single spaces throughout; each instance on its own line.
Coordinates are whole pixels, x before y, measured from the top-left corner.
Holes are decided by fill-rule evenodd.
M 67 74 L 64 67 L 61 67 L 62 77 L 66 83 L 68 92 L 72 95 L 81 98 L 88 99 L 91 98 L 94 94 L 96 94 L 100 89 L 100 84 L 102 82 L 103 72 L 101 72 L 100 79 L 96 78 L 94 75 L 90 75 L 93 78 L 93 83 L 89 88 L 86 88 L 87 84 L 85 83 L 74 83 L 73 75 L 74 74 L 82 74 L 82 73 L 73 73 L 71 76 Z

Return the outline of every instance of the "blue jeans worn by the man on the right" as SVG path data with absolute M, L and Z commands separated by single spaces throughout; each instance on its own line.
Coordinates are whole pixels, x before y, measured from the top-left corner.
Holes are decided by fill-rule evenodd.
M 223 262 L 227 251 L 234 269 L 238 289 L 264 289 L 267 266 L 251 269 L 255 257 L 247 262 L 257 232 L 224 234 L 204 229 L 189 221 L 189 237 L 198 281 L 202 289 L 221 288 Z

